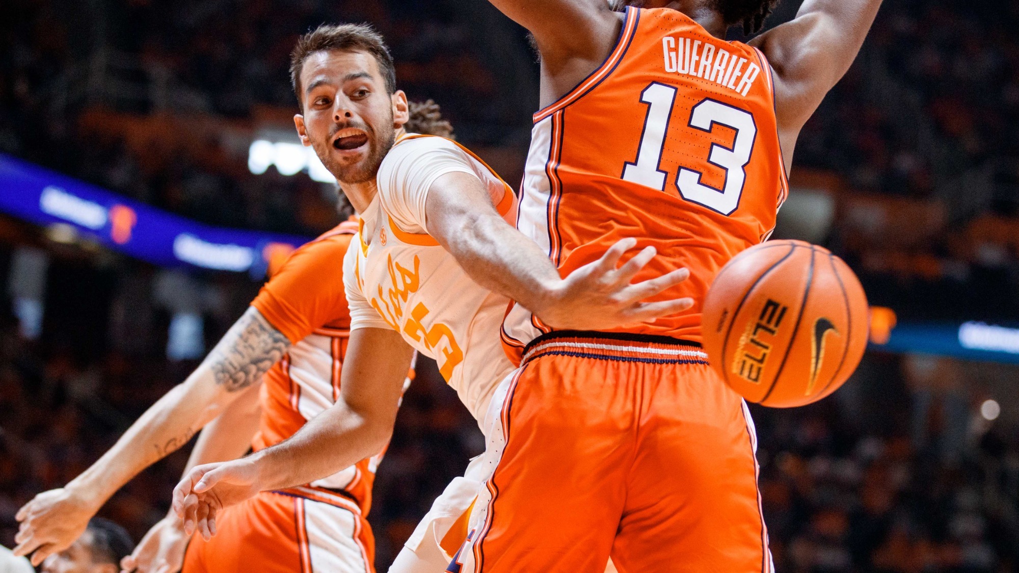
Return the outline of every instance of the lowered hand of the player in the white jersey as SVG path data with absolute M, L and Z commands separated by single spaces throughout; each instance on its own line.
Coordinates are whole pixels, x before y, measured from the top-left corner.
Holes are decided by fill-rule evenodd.
M 206 540 L 216 534 L 216 514 L 254 498 L 262 487 L 251 458 L 192 468 L 173 488 L 172 509 L 183 520 L 189 536 L 200 531 Z

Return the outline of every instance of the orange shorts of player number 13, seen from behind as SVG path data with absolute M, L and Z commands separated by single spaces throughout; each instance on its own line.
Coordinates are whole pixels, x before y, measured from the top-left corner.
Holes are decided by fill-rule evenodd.
M 706 355 L 575 334 L 536 340 L 496 390 L 448 571 L 602 573 L 610 556 L 622 573 L 770 573 L 753 422 Z

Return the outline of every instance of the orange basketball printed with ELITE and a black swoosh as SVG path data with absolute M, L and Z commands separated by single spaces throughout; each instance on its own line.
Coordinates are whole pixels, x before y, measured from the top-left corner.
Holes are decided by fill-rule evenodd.
M 867 299 L 826 249 L 770 241 L 718 272 L 704 300 L 704 350 L 749 402 L 792 408 L 830 395 L 867 345 Z

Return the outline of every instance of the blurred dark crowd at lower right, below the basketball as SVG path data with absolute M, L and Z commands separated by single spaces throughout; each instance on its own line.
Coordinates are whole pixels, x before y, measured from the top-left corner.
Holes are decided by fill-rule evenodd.
M 1019 433 L 977 368 L 869 355 L 830 401 L 754 410 L 776 571 L 1019 571 Z

